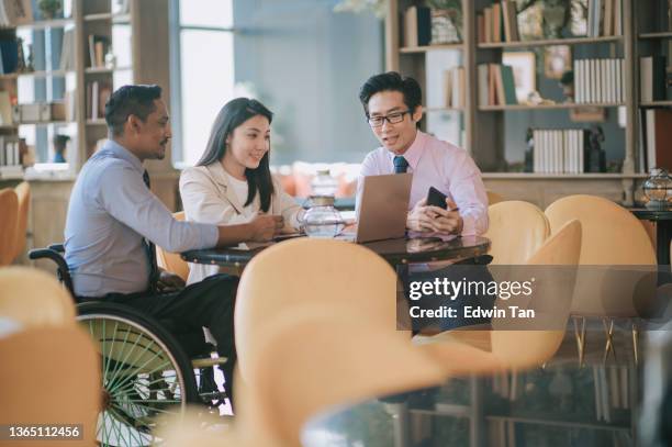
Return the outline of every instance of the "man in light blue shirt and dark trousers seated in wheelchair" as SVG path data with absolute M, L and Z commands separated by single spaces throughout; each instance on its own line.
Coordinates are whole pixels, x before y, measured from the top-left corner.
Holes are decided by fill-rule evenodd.
M 209 327 L 232 396 L 235 345 L 233 314 L 237 278 L 216 275 L 184 288 L 156 265 L 155 244 L 168 252 L 270 239 L 282 217 L 259 215 L 247 224 L 216 226 L 180 222 L 149 190 L 146 159 L 163 159 L 171 137 L 158 86 L 124 86 L 105 105 L 109 139 L 83 165 L 68 208 L 65 259 L 78 301 L 103 300 L 168 322 L 188 355 L 202 354 L 202 337 L 181 336 Z

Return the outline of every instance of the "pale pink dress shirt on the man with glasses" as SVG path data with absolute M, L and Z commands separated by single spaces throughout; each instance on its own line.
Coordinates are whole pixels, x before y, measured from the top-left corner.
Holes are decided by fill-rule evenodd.
M 462 236 L 481 235 L 488 231 L 488 194 L 481 171 L 464 149 L 417 131 L 415 141 L 403 154 L 413 172 L 408 210 L 427 197 L 434 187 L 457 203 L 464 221 Z M 384 147 L 370 152 L 361 164 L 357 182 L 357 209 L 361 179 L 366 176 L 393 174 L 394 154 Z

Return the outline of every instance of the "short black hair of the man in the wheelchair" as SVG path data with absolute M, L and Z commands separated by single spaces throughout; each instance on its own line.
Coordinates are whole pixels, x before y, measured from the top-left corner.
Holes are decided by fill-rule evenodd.
M 124 123 L 130 115 L 139 118 L 143 122 L 154 112 L 154 101 L 161 98 L 159 86 L 123 86 L 120 87 L 105 104 L 105 121 L 112 135 L 124 133 Z

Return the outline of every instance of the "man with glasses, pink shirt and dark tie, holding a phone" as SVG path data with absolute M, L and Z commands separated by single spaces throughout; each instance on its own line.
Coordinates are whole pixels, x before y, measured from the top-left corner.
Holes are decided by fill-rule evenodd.
M 361 87 L 359 100 L 382 147 L 369 153 L 361 165 L 357 199 L 366 176 L 413 172 L 408 230 L 483 234 L 488 230 L 488 195 L 481 171 L 466 150 L 418 128 L 422 97 L 415 79 L 395 71 L 372 76 Z M 426 204 L 430 187 L 447 195 L 447 210 Z

